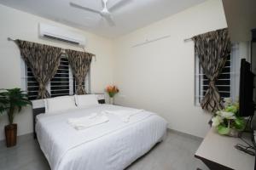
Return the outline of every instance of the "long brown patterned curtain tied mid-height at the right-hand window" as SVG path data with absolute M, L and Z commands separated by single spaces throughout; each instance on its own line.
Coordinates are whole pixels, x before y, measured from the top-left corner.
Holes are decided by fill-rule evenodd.
M 225 28 L 207 32 L 192 39 L 195 42 L 195 54 L 198 55 L 201 67 L 209 80 L 209 87 L 201 101 L 201 107 L 210 112 L 218 111 L 223 108 L 223 103 L 215 82 L 230 54 L 229 32 Z

